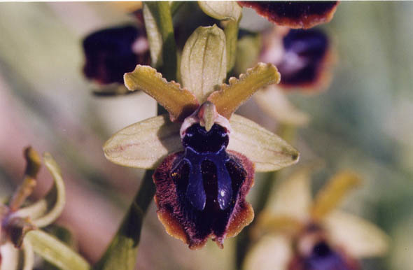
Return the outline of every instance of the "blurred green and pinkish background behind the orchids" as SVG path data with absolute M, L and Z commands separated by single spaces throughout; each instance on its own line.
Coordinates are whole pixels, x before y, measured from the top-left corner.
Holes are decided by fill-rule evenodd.
M 366 260 L 363 269 L 413 269 L 412 14 L 413 2 L 340 3 L 322 26 L 338 55 L 332 85 L 317 95 L 290 94 L 311 116 L 293 145 L 302 160 L 326 164 L 314 190 L 339 169 L 357 171 L 363 186 L 344 208 L 391 236 L 388 256 Z M 92 262 L 116 232 L 143 173 L 106 161 L 102 144 L 155 115 L 156 106 L 142 93 L 93 96 L 81 73 L 81 41 L 90 31 L 130 20 L 113 3 L 0 3 L 0 198 L 20 183 L 26 145 L 51 152 L 68 190 L 59 223 L 72 229 Z M 40 179 L 35 196 L 51 184 L 44 171 Z M 165 233 L 152 205 L 138 267 L 231 269 L 234 246 L 228 239 L 224 250 L 214 243 L 188 250 Z

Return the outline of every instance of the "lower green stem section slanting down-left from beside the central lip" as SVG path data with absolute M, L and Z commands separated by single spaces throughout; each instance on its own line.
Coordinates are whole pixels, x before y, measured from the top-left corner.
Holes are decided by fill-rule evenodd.
M 155 194 L 152 180 L 153 171 L 145 173 L 141 186 L 127 211 L 118 232 L 113 237 L 109 248 L 97 262 L 94 269 L 132 270 L 137 262 L 137 250 L 141 237 L 141 227 L 148 206 Z

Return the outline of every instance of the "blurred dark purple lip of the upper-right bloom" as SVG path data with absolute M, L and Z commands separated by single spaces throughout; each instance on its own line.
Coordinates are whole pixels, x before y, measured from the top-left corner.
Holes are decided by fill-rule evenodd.
M 283 37 L 283 59 L 276 64 L 281 73 L 281 85 L 316 84 L 321 78 L 328 45 L 327 36 L 317 29 L 288 31 Z

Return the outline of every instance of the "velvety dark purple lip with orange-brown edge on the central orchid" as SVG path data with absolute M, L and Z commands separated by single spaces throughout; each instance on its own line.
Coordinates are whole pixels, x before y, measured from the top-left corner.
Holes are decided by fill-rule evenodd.
M 199 123 L 186 129 L 184 152 L 169 155 L 155 171 L 155 201 L 167 232 L 190 248 L 211 236 L 222 246 L 251 222 L 245 196 L 253 184 L 253 164 L 227 152 L 228 131 L 214 124 L 207 132 Z

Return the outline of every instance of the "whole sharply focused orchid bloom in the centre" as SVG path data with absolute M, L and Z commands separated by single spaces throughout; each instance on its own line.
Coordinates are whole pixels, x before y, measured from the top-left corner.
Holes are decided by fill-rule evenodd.
M 169 113 L 138 122 L 104 145 L 116 164 L 155 169 L 158 218 L 169 234 L 202 248 L 211 237 L 223 247 L 253 220 L 245 201 L 255 171 L 297 162 L 297 150 L 255 122 L 233 113 L 260 88 L 279 83 L 272 64 L 259 63 L 223 84 L 225 35 L 199 27 L 181 57 L 181 82 L 167 82 L 151 66 L 125 74 L 129 90 L 151 95 Z

